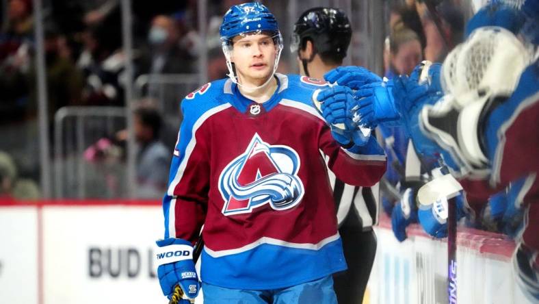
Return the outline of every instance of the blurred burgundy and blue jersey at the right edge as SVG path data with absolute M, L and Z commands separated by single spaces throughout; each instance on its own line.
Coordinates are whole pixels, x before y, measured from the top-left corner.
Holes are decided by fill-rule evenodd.
M 486 201 L 510 183 L 523 183 L 514 200 L 519 204 L 517 209 L 525 210 L 521 239 L 517 241 L 535 252 L 534 261 L 529 265 L 535 268 L 536 276 L 539 275 L 538 118 L 539 60 L 536 60 L 521 75 L 512 96 L 486 118 L 484 141 L 490 160 L 490 175 L 460 180 L 469 201 Z

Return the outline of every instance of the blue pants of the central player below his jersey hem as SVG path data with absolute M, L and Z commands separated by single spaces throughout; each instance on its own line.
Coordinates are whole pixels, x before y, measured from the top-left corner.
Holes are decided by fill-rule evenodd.
M 272 290 L 231 289 L 202 282 L 202 292 L 204 304 L 337 304 L 330 275 Z

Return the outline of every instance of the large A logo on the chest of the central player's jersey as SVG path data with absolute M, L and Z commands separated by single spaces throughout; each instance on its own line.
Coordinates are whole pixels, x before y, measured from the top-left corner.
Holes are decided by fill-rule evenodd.
M 219 177 L 226 216 L 250 213 L 269 204 L 287 210 L 300 203 L 304 188 L 298 177 L 300 157 L 293 149 L 269 145 L 254 134 L 246 151 L 228 164 Z

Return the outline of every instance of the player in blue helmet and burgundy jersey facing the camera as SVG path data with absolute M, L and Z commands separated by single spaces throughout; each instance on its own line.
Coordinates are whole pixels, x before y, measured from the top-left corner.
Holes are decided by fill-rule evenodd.
M 275 73 L 282 38 L 264 5 L 233 6 L 220 36 L 230 79 L 181 104 L 157 241 L 163 294 L 178 284 L 185 301 L 197 296 L 192 245 L 204 225 L 204 303 L 337 303 L 331 275 L 346 263 L 321 153 L 357 186 L 380 179 L 385 155 L 359 141 L 350 90 Z

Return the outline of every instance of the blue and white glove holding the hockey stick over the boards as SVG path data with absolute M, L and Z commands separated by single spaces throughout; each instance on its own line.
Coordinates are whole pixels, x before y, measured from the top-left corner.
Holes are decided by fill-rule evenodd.
M 463 216 L 466 215 L 466 207 L 464 202 L 464 197 L 462 194 L 459 194 L 456 198 L 456 219 L 460 220 Z M 425 230 L 426 233 L 434 238 L 445 238 L 447 236 L 447 199 L 442 197 L 437 199 L 434 203 L 430 205 L 419 205 L 419 210 L 417 210 L 417 218 L 421 227 Z

